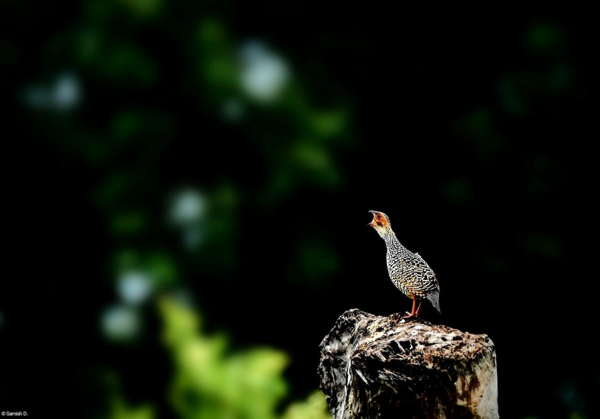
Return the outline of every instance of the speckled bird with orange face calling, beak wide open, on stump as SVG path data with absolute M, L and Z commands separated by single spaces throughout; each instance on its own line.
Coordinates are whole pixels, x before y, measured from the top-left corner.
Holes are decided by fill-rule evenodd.
M 373 227 L 385 241 L 387 247 L 386 259 L 388 262 L 389 278 L 396 288 L 412 298 L 412 312 L 406 312 L 403 319 L 418 316 L 424 300 L 440 312 L 440 285 L 436 274 L 419 253 L 410 252 L 400 244 L 394 231 L 392 231 L 389 217 L 381 211 L 369 211 L 373 214 L 373 221 L 368 225 Z M 419 306 L 416 306 L 419 300 Z

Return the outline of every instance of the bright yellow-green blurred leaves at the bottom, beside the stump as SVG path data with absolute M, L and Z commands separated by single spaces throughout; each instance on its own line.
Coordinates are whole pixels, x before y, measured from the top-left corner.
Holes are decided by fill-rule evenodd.
M 230 352 L 223 335 L 200 333 L 199 317 L 175 300 L 163 298 L 163 341 L 173 356 L 174 377 L 169 390 L 173 408 L 182 418 L 280 417 L 277 408 L 286 395 L 284 352 L 253 348 Z M 247 319 L 252 322 L 251 319 Z M 249 324 L 251 326 L 251 324 Z M 325 396 L 310 396 L 291 406 L 283 418 L 329 417 Z

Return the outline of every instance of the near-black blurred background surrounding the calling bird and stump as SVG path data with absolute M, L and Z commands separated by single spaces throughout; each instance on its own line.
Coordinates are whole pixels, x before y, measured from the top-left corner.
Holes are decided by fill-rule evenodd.
M 287 399 L 304 397 L 344 310 L 410 309 L 376 209 L 439 278 L 442 316 L 422 316 L 495 343 L 502 417 L 593 417 L 589 12 L 2 8 L 0 408 L 100 417 L 110 368 L 132 403 L 174 414 L 154 297 L 143 333 L 102 331 L 123 249 L 167 258 L 156 289 L 184 292 L 233 350 L 286 351 Z M 290 69 L 270 100 L 236 82 L 253 42 Z M 61 76 L 78 93 L 53 102 Z M 181 188 L 207 202 L 184 226 L 196 246 L 166 215 Z

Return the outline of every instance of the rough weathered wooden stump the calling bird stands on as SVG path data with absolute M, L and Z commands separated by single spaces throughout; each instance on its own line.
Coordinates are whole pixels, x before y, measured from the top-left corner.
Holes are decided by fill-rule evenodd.
M 498 418 L 494 344 L 419 318 L 352 309 L 320 345 L 335 419 Z

